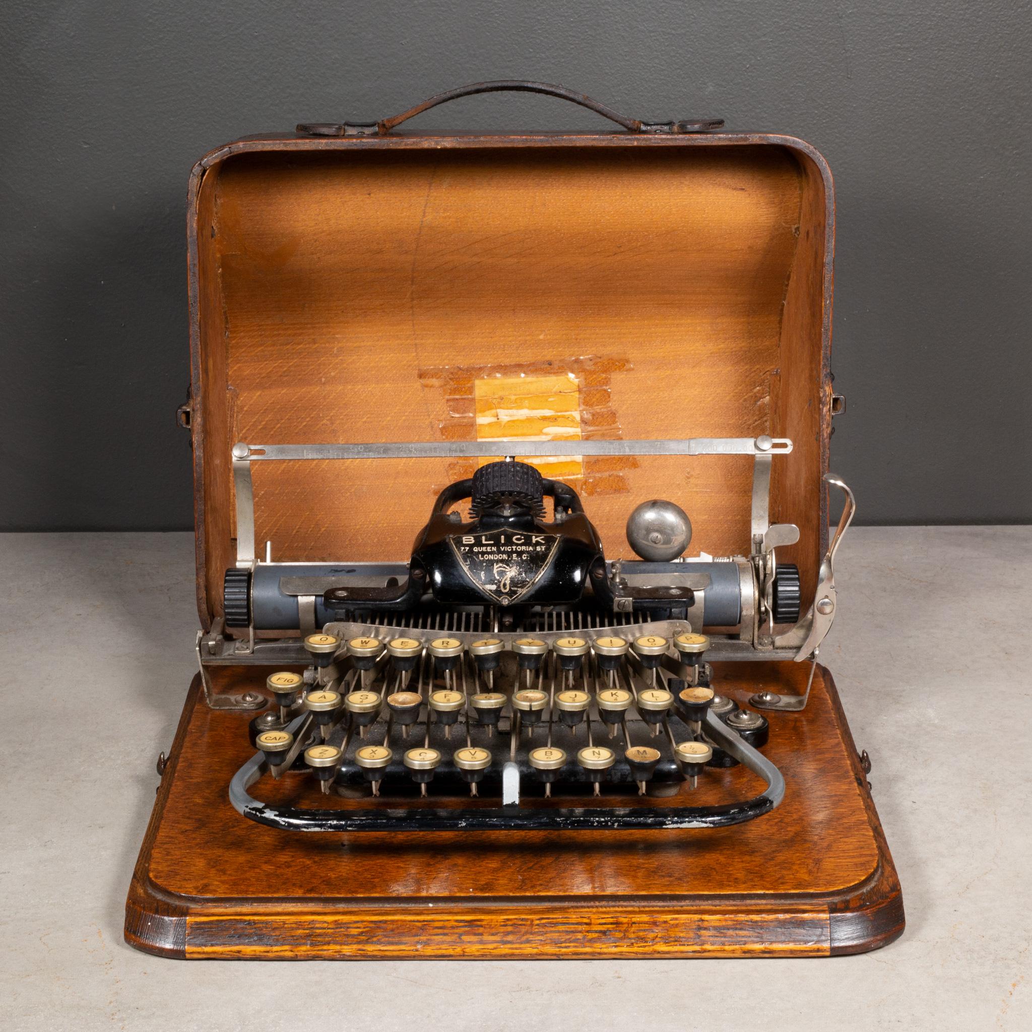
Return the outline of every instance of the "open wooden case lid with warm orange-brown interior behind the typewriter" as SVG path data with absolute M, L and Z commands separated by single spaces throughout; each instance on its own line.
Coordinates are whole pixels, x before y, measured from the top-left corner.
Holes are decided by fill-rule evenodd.
M 492 405 L 531 433 L 556 383 L 584 439 L 791 438 L 771 518 L 799 525 L 778 558 L 812 592 L 831 393 L 819 156 L 784 137 L 299 142 L 237 146 L 196 172 L 205 625 L 235 555 L 234 442 L 477 440 Z M 491 400 L 502 381 L 519 381 L 516 401 Z M 437 492 L 475 464 L 254 463 L 256 541 L 282 561 L 407 559 Z M 617 557 L 652 497 L 689 514 L 689 555 L 747 553 L 751 477 L 743 456 L 613 457 L 562 479 Z

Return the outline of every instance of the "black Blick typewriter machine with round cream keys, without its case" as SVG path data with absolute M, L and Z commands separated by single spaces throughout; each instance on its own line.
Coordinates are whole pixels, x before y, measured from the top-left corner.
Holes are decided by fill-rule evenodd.
M 577 491 L 519 461 L 546 450 L 751 457 L 750 554 L 686 559 L 688 516 L 649 499 L 626 522 L 638 558 L 607 560 Z M 223 604 L 225 626 L 246 638 L 200 635 L 200 669 L 205 680 L 219 665 L 294 669 L 266 679 L 233 807 L 304 832 L 676 829 L 767 813 L 785 785 L 764 755 L 764 711 L 802 709 L 806 695 L 739 705 L 710 660 L 809 660 L 812 681 L 853 512 L 849 489 L 826 477 L 846 504 L 804 613 L 798 569 L 776 558 L 799 530 L 768 519 L 771 464 L 791 451 L 768 436 L 237 444 L 238 555 Z M 408 563 L 276 562 L 271 543 L 255 556 L 253 462 L 404 457 L 418 478 L 421 457 L 442 455 L 484 464 L 441 491 Z M 738 764 L 762 792 L 695 804 L 701 780 Z M 270 781 L 290 783 L 287 797 L 265 798 Z

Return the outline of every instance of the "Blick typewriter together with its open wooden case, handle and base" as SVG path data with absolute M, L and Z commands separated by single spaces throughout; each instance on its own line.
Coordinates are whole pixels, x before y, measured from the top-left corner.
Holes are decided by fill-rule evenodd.
M 507 91 L 607 128 L 409 131 Z M 853 513 L 834 216 L 802 140 L 527 82 L 197 163 L 197 669 L 130 943 L 811 957 L 902 932 L 823 662 Z

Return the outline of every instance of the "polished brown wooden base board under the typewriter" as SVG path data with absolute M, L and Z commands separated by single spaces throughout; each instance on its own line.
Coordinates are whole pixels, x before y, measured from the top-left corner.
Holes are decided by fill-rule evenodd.
M 729 664 L 716 684 L 746 703 L 755 690 L 801 691 L 806 672 Z M 266 673 L 228 676 L 258 687 Z M 126 940 L 139 949 L 223 960 L 827 957 L 903 931 L 896 870 L 824 668 L 805 711 L 768 714 L 764 751 L 785 776 L 783 803 L 720 829 L 282 832 L 227 797 L 251 752 L 251 715 L 209 710 L 195 679 L 126 903 Z M 268 780 L 257 795 L 271 797 Z M 309 799 L 310 779 L 282 782 L 281 796 L 324 805 Z M 741 767 L 701 782 L 699 803 L 760 787 Z

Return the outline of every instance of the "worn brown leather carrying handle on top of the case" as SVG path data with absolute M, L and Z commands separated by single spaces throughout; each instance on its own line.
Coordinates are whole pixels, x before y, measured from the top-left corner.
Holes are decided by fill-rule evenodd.
M 478 93 L 540 93 L 546 97 L 558 97 L 560 100 L 569 100 L 572 104 L 579 104 L 581 107 L 602 115 L 618 126 L 622 126 L 627 132 L 697 133 L 706 132 L 709 129 L 719 129 L 723 125 L 723 119 L 643 122 L 641 119 L 630 119 L 625 115 L 620 115 L 612 107 L 601 104 L 598 100 L 592 100 L 583 93 L 568 90 L 565 86 L 555 86 L 552 83 L 531 83 L 522 78 L 502 78 L 491 83 L 472 83 L 455 90 L 448 90 L 446 93 L 439 93 L 400 115 L 381 119 L 379 122 L 303 122 L 298 125 L 297 131 L 309 136 L 386 136 L 402 122 L 408 122 L 414 116 L 437 107 L 438 104 L 457 100 L 459 97 L 472 97 Z

